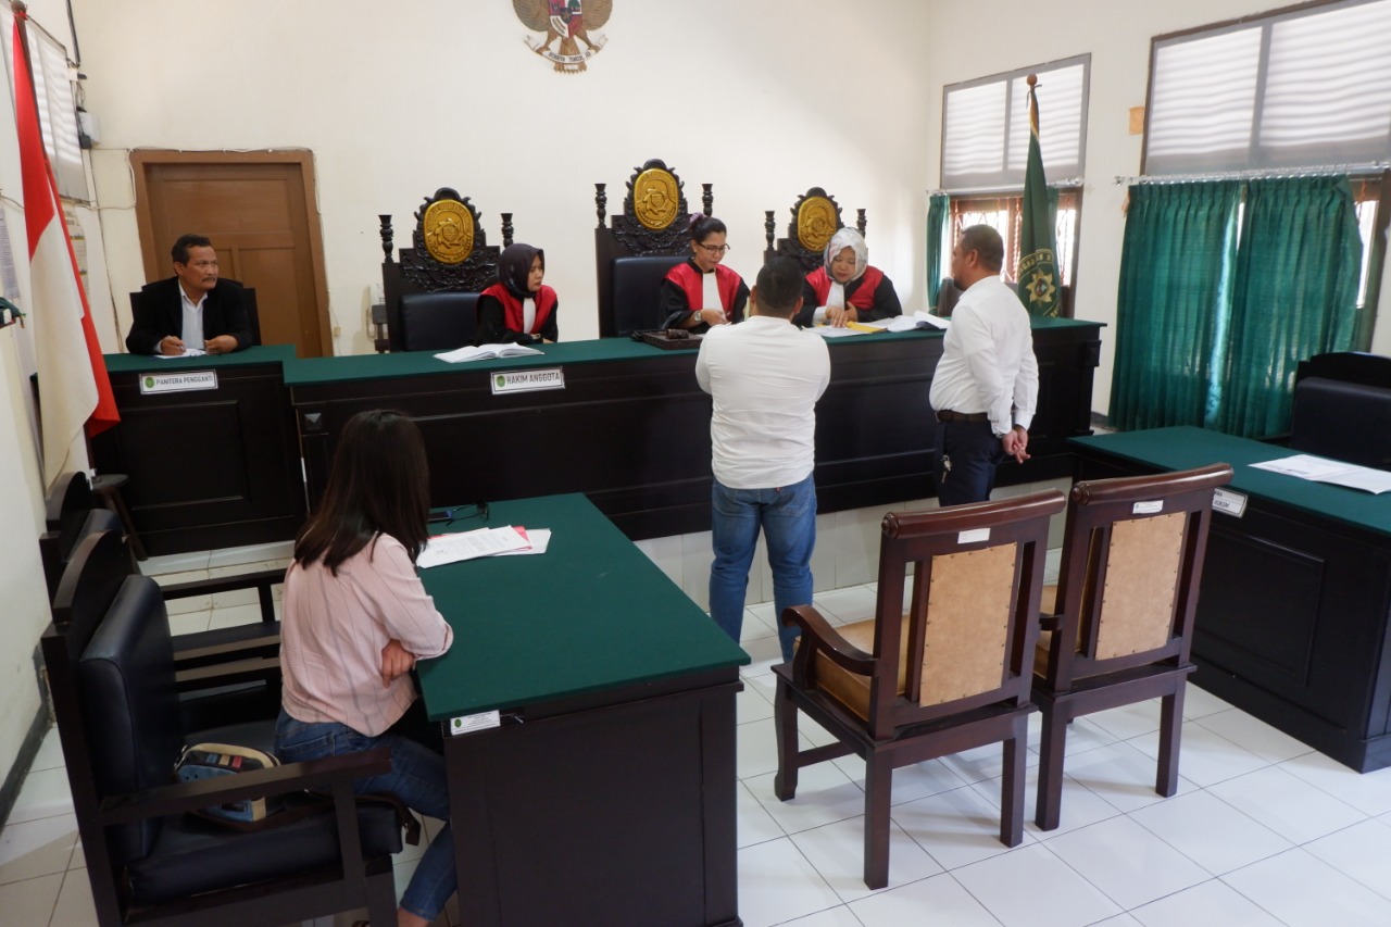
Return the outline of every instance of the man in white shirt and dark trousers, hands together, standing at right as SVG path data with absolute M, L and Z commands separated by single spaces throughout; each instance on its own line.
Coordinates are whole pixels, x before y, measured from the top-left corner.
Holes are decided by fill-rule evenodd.
M 995 468 L 1029 459 L 1039 394 L 1029 313 L 1000 280 L 1004 242 L 971 225 L 951 249 L 951 278 L 964 290 L 943 338 L 929 399 L 938 416 L 938 502 L 983 502 Z

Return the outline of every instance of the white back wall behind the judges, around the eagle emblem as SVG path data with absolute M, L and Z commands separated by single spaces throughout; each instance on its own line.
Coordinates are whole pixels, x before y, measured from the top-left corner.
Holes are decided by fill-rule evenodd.
M 512 212 L 517 239 L 547 251 L 562 337 L 595 337 L 594 182 L 618 212 L 648 157 L 675 167 L 694 209 L 715 185 L 746 277 L 765 209 L 785 224 L 811 185 L 867 207 L 875 263 L 922 305 L 928 4 L 842 10 L 619 3 L 588 72 L 559 75 L 506 3 L 75 0 L 113 291 L 143 283 L 129 149 L 306 148 L 338 354 L 370 351 L 377 214 L 409 245 L 437 187 L 472 196 L 494 244 Z

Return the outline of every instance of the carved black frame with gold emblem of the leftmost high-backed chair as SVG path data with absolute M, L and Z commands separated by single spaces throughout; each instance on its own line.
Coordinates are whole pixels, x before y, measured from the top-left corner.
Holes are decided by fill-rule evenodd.
M 387 334 L 392 351 L 408 351 L 406 324 L 402 301 L 417 294 L 477 294 L 498 276 L 497 245 L 488 245 L 487 232 L 479 221 L 479 210 L 467 196 L 449 187 L 441 187 L 426 196 L 416 212 L 412 248 L 402 248 L 392 260 L 391 216 L 383 214 L 381 263 L 383 295 L 387 302 Z M 512 244 L 512 213 L 502 213 L 502 245 Z M 472 306 L 467 308 L 472 312 Z M 467 337 L 473 333 L 473 319 L 467 319 Z M 460 341 L 460 344 L 463 344 Z M 416 345 L 427 347 L 427 345 Z M 438 345 L 438 347 L 459 347 Z

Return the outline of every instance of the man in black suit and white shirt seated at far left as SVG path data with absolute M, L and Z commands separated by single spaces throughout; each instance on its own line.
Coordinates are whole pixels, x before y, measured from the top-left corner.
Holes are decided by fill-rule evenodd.
M 203 235 L 181 235 L 170 252 L 174 276 L 146 284 L 125 337 L 131 354 L 241 351 L 252 342 L 241 285 L 217 278 L 217 252 Z

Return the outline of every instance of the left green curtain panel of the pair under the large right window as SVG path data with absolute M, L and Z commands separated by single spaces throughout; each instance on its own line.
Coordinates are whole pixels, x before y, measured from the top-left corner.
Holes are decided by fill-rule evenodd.
M 1241 184 L 1129 188 L 1109 419 L 1121 430 L 1212 425 L 1237 255 Z

